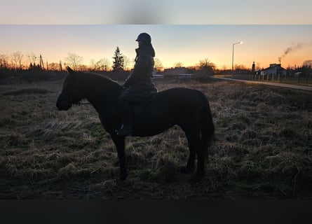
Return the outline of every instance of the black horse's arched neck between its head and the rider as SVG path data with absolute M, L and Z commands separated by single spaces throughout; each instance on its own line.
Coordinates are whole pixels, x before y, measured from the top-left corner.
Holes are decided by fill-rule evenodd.
M 114 107 L 122 87 L 113 80 L 93 73 L 82 73 L 79 77 L 84 97 L 93 105 L 96 111 Z

